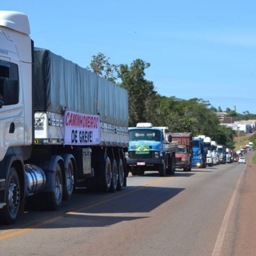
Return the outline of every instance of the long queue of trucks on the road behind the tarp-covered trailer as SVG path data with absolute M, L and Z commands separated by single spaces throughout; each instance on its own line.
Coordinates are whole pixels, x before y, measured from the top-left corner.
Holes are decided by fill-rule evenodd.
M 158 170 L 160 176 L 174 174 L 176 168 L 184 172 L 192 167 L 206 168 L 237 162 L 246 147 L 233 152 L 217 144 L 210 137 L 191 133 L 169 133 L 168 127 L 153 127 L 152 123 L 138 123 L 129 128 L 129 149 L 125 153 L 128 172 L 143 175 L 145 170 Z M 248 150 L 253 147 L 248 144 Z

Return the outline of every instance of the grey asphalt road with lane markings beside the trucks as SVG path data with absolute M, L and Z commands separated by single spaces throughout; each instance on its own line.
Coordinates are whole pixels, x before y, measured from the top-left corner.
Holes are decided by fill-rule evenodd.
M 245 164 L 129 176 L 108 194 L 79 191 L 59 211 L 0 227 L 0 255 L 232 255 Z

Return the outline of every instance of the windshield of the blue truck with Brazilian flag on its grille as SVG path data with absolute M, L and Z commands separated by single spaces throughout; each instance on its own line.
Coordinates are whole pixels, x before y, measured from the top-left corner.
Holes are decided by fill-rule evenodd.
M 160 131 L 151 129 L 138 129 L 129 131 L 129 140 L 156 140 L 160 141 Z

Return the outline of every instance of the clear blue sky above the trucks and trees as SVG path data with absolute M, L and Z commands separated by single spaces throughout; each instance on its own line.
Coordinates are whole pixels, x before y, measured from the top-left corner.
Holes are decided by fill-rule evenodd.
M 141 58 L 165 96 L 203 98 L 223 110 L 256 113 L 256 2 L 237 0 L 8 0 L 29 15 L 36 47 L 81 67 Z

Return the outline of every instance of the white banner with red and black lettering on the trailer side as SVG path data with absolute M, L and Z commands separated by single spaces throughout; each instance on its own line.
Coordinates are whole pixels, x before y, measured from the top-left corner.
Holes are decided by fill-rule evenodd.
M 100 116 L 65 111 L 64 145 L 100 144 Z

